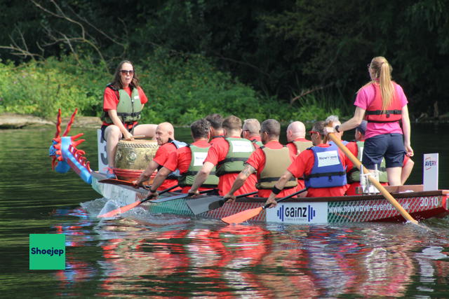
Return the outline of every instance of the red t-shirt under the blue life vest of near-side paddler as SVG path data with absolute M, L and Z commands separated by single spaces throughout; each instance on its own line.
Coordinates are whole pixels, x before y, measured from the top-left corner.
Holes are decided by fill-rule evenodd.
M 327 148 L 329 147 L 329 144 L 320 144 L 319 147 Z M 342 151 L 340 151 L 340 149 L 338 150 L 338 153 L 340 155 L 340 160 L 342 161 L 343 167 L 346 167 L 349 159 L 342 153 Z M 288 171 L 296 177 L 309 175 L 312 167 L 314 166 L 314 162 L 315 157 L 313 151 L 302 151 L 290 167 L 288 167 Z M 309 188 L 307 189 L 307 197 L 343 196 L 346 189 L 347 185 L 329 188 Z

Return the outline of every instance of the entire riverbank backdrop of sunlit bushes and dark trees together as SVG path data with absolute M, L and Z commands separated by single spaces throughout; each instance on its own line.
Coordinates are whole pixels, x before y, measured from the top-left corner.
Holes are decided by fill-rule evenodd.
M 387 57 L 411 118 L 449 111 L 446 1 L 41 1 L 0 4 L 0 112 L 98 116 L 123 59 L 144 120 L 351 116 L 366 64 Z

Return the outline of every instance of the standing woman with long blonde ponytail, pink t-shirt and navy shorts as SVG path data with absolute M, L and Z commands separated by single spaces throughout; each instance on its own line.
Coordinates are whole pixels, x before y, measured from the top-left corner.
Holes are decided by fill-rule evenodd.
M 385 158 L 390 186 L 401 185 L 401 169 L 404 155 L 413 156 L 410 145 L 410 118 L 407 97 L 400 85 L 391 81 L 393 68 L 384 57 L 374 57 L 368 64 L 371 81 L 357 92 L 354 116 L 327 132 L 354 129 L 363 119 L 366 141 L 362 163 L 367 169 L 380 168 Z

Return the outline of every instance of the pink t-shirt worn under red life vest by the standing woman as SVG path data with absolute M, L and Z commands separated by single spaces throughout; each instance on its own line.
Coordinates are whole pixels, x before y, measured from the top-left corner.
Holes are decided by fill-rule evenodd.
M 394 86 L 396 89 L 396 95 L 399 97 L 399 100 L 401 101 L 401 106 L 402 107 L 406 106 L 408 101 L 406 95 L 404 94 L 403 89 L 398 84 L 394 84 Z M 375 92 L 373 86 L 366 85 L 365 87 L 361 88 L 361 90 L 358 91 L 356 102 L 354 102 L 354 106 L 358 106 L 361 109 L 366 110 L 366 108 L 371 104 L 371 102 L 373 102 L 374 97 Z M 394 123 L 368 122 L 368 125 L 366 125 L 365 139 L 375 137 L 380 134 L 391 134 L 391 133 L 403 134 L 401 126 L 399 125 L 398 121 Z

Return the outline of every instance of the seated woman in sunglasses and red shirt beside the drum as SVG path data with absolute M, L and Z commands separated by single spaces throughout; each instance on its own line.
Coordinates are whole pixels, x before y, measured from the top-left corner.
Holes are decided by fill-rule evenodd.
M 119 139 L 133 140 L 133 134 L 154 137 L 156 125 L 138 125 L 140 112 L 147 102 L 133 64 L 123 60 L 115 71 L 114 81 L 106 86 L 103 95 L 101 130 L 102 139 L 106 141 L 108 179 L 116 179 L 114 157 Z

